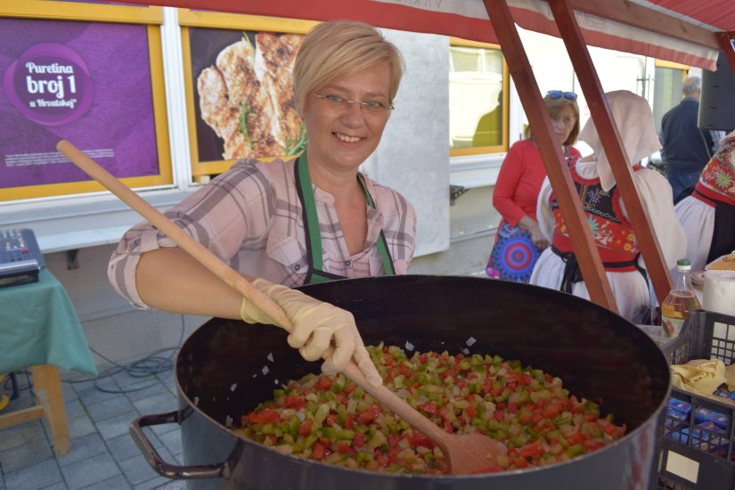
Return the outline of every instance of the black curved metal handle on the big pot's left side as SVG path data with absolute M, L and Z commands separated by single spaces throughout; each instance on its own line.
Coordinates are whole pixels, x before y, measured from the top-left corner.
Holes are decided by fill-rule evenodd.
M 133 437 L 138 449 L 143 453 L 145 461 L 148 461 L 151 468 L 162 477 L 174 479 L 224 477 L 227 470 L 227 465 L 224 461 L 216 464 L 202 464 L 194 466 L 179 466 L 163 461 L 159 456 L 159 453 L 153 448 L 153 445 L 151 445 L 151 441 L 149 441 L 148 437 L 143 433 L 143 427 L 170 423 L 180 424 L 181 421 L 182 419 L 179 411 L 143 415 L 135 419 L 135 421 L 130 424 L 130 436 Z

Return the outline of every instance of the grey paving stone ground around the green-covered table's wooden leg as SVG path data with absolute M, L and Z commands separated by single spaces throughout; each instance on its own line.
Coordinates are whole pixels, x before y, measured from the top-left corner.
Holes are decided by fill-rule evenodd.
M 3 413 L 33 404 L 29 376 L 16 375 L 19 396 Z M 61 371 L 71 450 L 53 453 L 44 420 L 0 429 L 0 490 L 183 490 L 182 480 L 163 478 L 151 469 L 128 434 L 140 415 L 176 410 L 176 380 L 168 369 L 141 375 L 101 370 L 96 379 Z M 7 388 L 3 388 L 7 391 Z M 168 462 L 183 464 L 176 424 L 144 429 Z

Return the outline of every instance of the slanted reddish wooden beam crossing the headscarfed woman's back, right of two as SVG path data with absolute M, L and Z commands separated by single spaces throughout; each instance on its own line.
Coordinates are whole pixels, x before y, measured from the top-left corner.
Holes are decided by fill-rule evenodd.
M 590 53 L 584 44 L 582 32 L 576 23 L 570 5 L 571 0 L 549 0 L 549 4 L 559 26 L 564 45 L 567 46 L 576 77 L 582 86 L 584 98 L 590 107 L 592 120 L 610 162 L 617 188 L 623 197 L 625 210 L 633 225 L 633 232 L 643 259 L 646 261 L 647 272 L 656 291 L 658 303 L 663 304 L 666 295 L 671 290 L 671 277 L 662 258 L 656 235 L 651 228 L 649 216 L 646 209 L 641 206 L 641 199 L 633 183 L 633 169 L 629 165 L 627 154 L 622 149 L 615 121 L 610 116 L 608 103 L 602 94 L 600 78 L 597 76 Z

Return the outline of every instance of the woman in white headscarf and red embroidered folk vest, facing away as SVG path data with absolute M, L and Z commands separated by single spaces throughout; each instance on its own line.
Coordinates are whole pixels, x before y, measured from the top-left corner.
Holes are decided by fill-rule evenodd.
M 661 147 L 649 103 L 626 90 L 609 92 L 605 97 L 623 149 L 633 166 L 633 182 L 641 205 L 648 212 L 666 266 L 672 268 L 686 253 L 686 235 L 674 214 L 671 185 L 655 170 L 639 165 L 641 159 Z M 648 311 L 656 299 L 651 299 L 638 241 L 592 119 L 582 129 L 579 139 L 589 144 L 593 152 L 571 160 L 569 168 L 617 310 L 628 320 L 645 323 L 649 318 L 643 317 L 642 312 Z M 530 283 L 590 298 L 548 178 L 539 194 L 537 216 L 542 233 L 552 245 L 536 262 Z

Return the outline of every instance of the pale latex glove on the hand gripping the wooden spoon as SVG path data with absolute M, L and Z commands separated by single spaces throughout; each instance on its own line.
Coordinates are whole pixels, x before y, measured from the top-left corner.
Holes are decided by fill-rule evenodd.
M 294 325 L 288 338 L 289 345 L 298 348 L 306 361 L 316 361 L 325 356 L 322 372 L 333 374 L 344 371 L 352 358 L 363 372 L 365 380 L 373 386 L 382 384 L 383 380 L 365 349 L 351 313 L 265 279 L 257 278 L 251 284 L 283 308 Z M 247 299 L 242 300 L 240 316 L 247 323 L 276 325 L 270 316 Z

